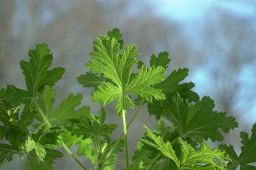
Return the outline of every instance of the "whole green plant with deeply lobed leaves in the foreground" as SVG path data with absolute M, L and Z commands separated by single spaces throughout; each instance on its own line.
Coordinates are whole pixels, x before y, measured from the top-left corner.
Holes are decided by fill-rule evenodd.
M 195 85 L 182 82 L 188 69 L 177 69 L 165 78 L 170 61 L 167 52 L 153 54 L 150 67 L 137 61 L 139 55 L 134 45 L 123 48 L 118 29 L 98 36 L 89 54 L 92 61 L 85 64 L 89 72 L 77 78 L 83 86 L 94 88 L 91 100 L 99 103 L 99 110 L 91 114 L 90 107 L 80 106 L 81 94 L 71 94 L 53 107 L 53 86 L 65 70 L 48 70 L 53 56 L 46 44 L 29 50 L 30 60 L 20 61 L 27 89 L 8 85 L 0 90 L 0 163 L 18 154 L 27 169 L 53 169 L 55 160 L 63 156 L 58 148 L 63 147 L 81 169 L 88 166 L 76 156 L 89 158 L 91 169 L 115 169 L 119 163 L 126 163 L 126 169 L 236 169 L 239 165 L 241 169 L 256 169 L 248 165 L 256 162 L 256 124 L 251 138 L 241 133 L 240 156 L 233 146 L 210 149 L 205 141 L 222 141 L 223 133 L 238 126 L 235 118 L 214 111 L 210 97 L 199 99 L 191 90 Z M 132 72 L 134 65 L 138 73 Z M 124 125 L 115 140 L 110 135 L 117 125 L 105 123 L 104 109 L 113 101 Z M 147 132 L 130 157 L 127 129 L 142 105 L 147 105 L 149 114 L 158 120 L 157 128 L 152 131 L 145 126 Z M 126 125 L 128 107 L 136 109 Z M 75 144 L 79 145 L 76 155 L 70 150 Z M 117 160 L 123 147 L 126 158 Z

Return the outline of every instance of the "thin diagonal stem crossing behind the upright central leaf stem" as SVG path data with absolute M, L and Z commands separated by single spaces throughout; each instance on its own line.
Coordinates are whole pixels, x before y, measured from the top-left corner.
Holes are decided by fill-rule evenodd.
M 143 103 L 145 102 L 145 99 L 141 99 L 141 102 L 139 103 L 137 109 L 135 110 L 134 114 L 132 115 L 132 118 L 130 119 L 130 121 L 128 122 L 128 125 L 126 127 L 126 129 L 128 129 L 130 127 L 130 124 L 132 124 L 132 121 L 134 120 L 134 118 L 137 116 L 137 114 L 139 113 L 139 110 L 141 109 Z M 111 147 L 111 149 L 109 150 L 109 152 L 107 152 L 106 156 L 104 156 L 103 160 L 101 160 L 102 163 L 104 163 L 104 161 L 109 158 L 109 156 L 112 154 L 112 152 L 115 150 L 115 148 L 117 147 L 119 141 L 122 139 L 122 137 L 124 136 L 124 132 L 122 132 L 119 137 L 115 140 L 113 146 Z

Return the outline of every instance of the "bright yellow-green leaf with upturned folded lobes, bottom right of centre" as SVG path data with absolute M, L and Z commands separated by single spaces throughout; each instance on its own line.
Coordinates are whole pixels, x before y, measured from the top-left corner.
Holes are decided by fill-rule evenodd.
M 147 126 L 145 126 L 145 129 L 147 129 L 146 136 L 150 140 L 141 138 L 139 141 L 159 150 L 162 155 L 173 160 L 178 169 L 225 169 L 225 161 L 229 160 L 225 152 L 217 149 L 211 150 L 207 143 L 203 143 L 198 150 L 195 150 L 180 137 L 177 139 L 181 148 L 181 155 L 178 158 L 169 141 L 163 141 L 160 136 L 155 135 Z M 218 159 L 218 161 L 215 159 Z M 200 165 L 201 163 L 203 165 Z M 173 167 L 173 165 L 170 166 Z

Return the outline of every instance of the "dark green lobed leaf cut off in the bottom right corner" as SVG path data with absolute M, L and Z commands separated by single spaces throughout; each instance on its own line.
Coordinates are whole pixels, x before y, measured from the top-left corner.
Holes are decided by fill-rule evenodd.
M 256 162 L 256 124 L 253 125 L 251 138 L 248 137 L 248 133 L 241 132 L 240 137 L 242 138 L 242 152 L 238 156 L 233 149 L 233 146 L 220 145 L 221 150 L 225 150 L 232 162 L 228 163 L 227 169 L 236 169 L 240 166 L 241 170 L 256 169 L 255 166 L 249 165 L 250 163 Z

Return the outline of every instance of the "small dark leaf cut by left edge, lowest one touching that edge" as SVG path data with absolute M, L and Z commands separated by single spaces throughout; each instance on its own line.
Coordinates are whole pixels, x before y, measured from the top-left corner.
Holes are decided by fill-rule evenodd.
M 12 160 L 12 155 L 18 154 L 18 149 L 5 143 L 0 143 L 0 165 L 3 160 Z

